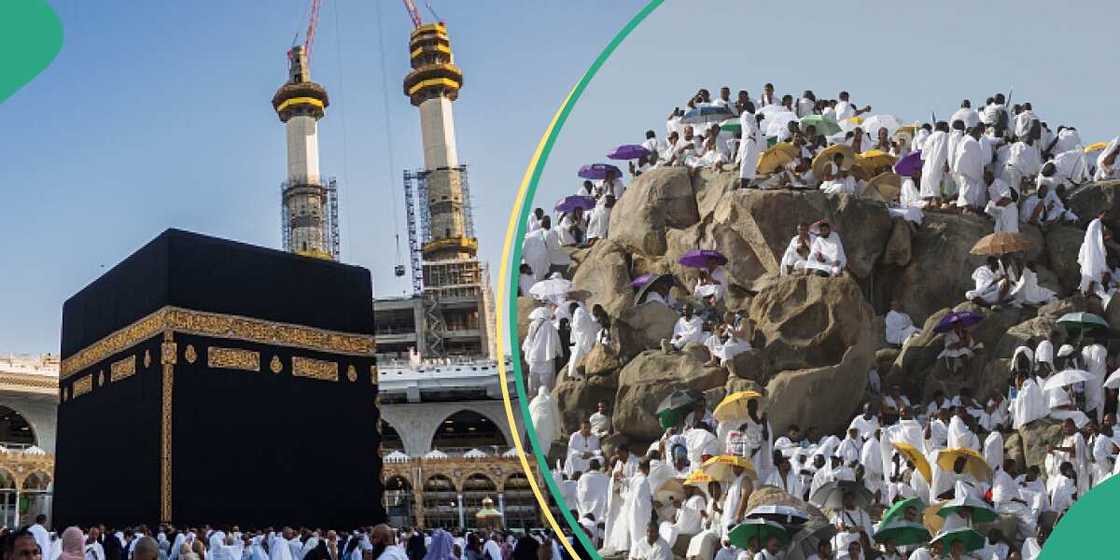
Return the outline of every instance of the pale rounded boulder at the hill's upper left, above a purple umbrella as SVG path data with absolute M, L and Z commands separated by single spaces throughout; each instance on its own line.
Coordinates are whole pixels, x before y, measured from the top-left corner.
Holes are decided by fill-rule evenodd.
M 700 221 L 688 169 L 652 169 L 631 181 L 610 212 L 608 237 L 646 255 L 665 253 L 665 233 Z

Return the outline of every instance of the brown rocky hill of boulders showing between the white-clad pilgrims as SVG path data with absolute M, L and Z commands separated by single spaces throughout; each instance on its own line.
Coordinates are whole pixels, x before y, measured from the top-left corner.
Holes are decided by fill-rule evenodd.
M 1061 315 L 1090 310 L 1120 325 L 1117 310 L 1105 314 L 1095 300 L 1071 296 L 1080 278 L 1076 258 L 1084 222 L 1103 211 L 1107 225 L 1120 231 L 1118 183 L 1071 194 L 1068 206 L 1083 217 L 1082 224 L 1045 231 L 1023 226 L 1035 240 L 1027 258 L 1038 264 L 1039 283 L 1062 299 L 1037 309 L 989 310 L 962 304 L 972 288 L 972 271 L 983 263 L 969 250 L 991 233 L 989 220 L 926 212 L 918 227 L 893 218 L 881 202 L 815 190 L 732 189 L 737 179 L 731 171 L 704 170 L 692 177 L 683 168 L 646 172 L 614 208 L 609 239 L 572 253 L 570 278 L 576 288 L 590 292 L 589 304 L 601 304 L 610 314 L 618 343 L 612 349 L 597 347 L 584 358 L 586 380 L 560 377 L 554 395 L 566 431 L 577 429 L 579 419 L 601 400 L 613 403 L 612 420 L 620 437 L 642 445 L 661 435 L 654 408 L 674 389 L 698 389 L 717 402 L 728 391 L 758 385 L 768 395 L 775 432 L 796 422 L 819 433 L 838 433 L 867 399 L 872 366 L 884 386 L 899 383 L 911 398 L 923 401 L 935 390 L 955 394 L 962 386 L 987 396 L 1006 389 L 1007 362 L 1020 342 L 1062 333 L 1056 328 Z M 828 218 L 843 241 L 847 277 L 780 278 L 778 263 L 796 225 L 821 218 Z M 708 355 L 699 345 L 680 354 L 660 352 L 659 342 L 671 335 L 676 316 L 656 304 L 635 306 L 629 287 L 646 272 L 672 273 L 692 286 L 696 270 L 676 262 L 692 249 L 718 249 L 728 255 L 732 286 L 725 302 L 730 310 L 747 311 L 755 324 L 755 349 L 727 368 L 704 367 Z M 675 290 L 678 300 L 687 299 L 682 288 Z M 916 324 L 924 323 L 922 334 L 902 353 L 884 340 L 881 317 L 892 299 L 898 299 Z M 534 305 L 528 298 L 519 301 L 520 333 Z M 933 326 L 950 310 L 963 308 L 986 316 L 974 333 L 984 349 L 967 371 L 951 375 L 936 361 L 943 342 Z M 1008 438 L 1009 455 L 1040 460 L 1039 430 L 1053 437 L 1047 421 L 1035 422 L 1018 438 Z

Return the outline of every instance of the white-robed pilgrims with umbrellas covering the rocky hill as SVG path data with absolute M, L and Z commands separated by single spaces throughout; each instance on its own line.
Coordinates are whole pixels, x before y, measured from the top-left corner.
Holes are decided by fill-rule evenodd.
M 1120 179 L 1118 144 L 1120 138 L 1085 144 L 1075 128 L 1051 128 L 1030 103 L 1011 104 L 1004 94 L 976 109 L 965 100 L 946 120 L 903 123 L 874 114 L 848 92 L 819 100 L 805 91 L 795 99 L 766 84 L 759 97 L 700 90 L 669 114 L 664 138 L 647 131 L 640 144 L 620 146 L 608 158 L 627 160 L 631 178 L 662 167 L 737 170 L 738 188 L 872 197 L 912 227 L 921 227 L 925 212 L 987 216 L 992 235 L 973 249 L 987 260 L 962 301 L 996 310 L 1057 298 L 1023 256 L 1029 245 L 1020 224 L 1044 231 L 1056 222 L 1082 225 L 1079 291 L 1103 309 L 1120 282 L 1120 255 L 1110 252 L 1103 215 L 1075 215 L 1068 197 L 1084 184 Z M 1107 323 L 1090 314 L 1063 317 L 1049 336 L 999 356 L 1010 358 L 1011 381 L 991 394 L 965 388 L 922 401 L 898 385 L 881 386 L 872 370 L 860 412 L 837 433 L 810 426 L 775 433 L 766 411 L 788 404 L 759 392 L 707 403 L 699 393 L 675 391 L 656 410 L 664 431 L 648 447 L 614 437 L 616 403 L 607 402 L 582 411 L 586 419 L 564 445 L 551 394 L 558 376 L 579 379 L 582 356 L 617 345 L 612 317 L 601 306 L 585 306 L 587 295 L 572 284 L 569 255 L 608 236 L 612 209 L 627 196 L 616 166 L 585 166 L 579 175 L 582 183 L 557 204 L 554 222 L 543 208 L 530 216 L 520 295 L 543 305 L 530 315 L 521 349 L 535 395 L 534 429 L 542 446 L 560 450 L 558 487 L 605 556 L 1034 559 L 1071 505 L 1120 468 L 1120 371 L 1113 372 L 1120 361 L 1107 346 Z M 847 274 L 841 233 L 827 221 L 800 224 L 780 273 Z M 719 366 L 752 351 L 750 319 L 724 302 L 725 265 L 736 256 L 697 248 L 680 259 L 698 271 L 694 282 L 672 274 L 633 279 L 636 305 L 679 315 L 662 352 L 701 345 L 706 366 Z M 921 319 L 916 326 L 892 302 L 881 346 L 905 348 L 920 335 Z M 971 329 L 982 320 L 960 311 L 937 324 L 944 340 L 937 357 L 950 374 L 968 374 L 981 348 Z M 1035 422 L 1061 429 L 1044 463 L 1028 467 L 1005 457 L 1006 438 Z M 748 510 L 750 496 L 767 487 L 794 500 Z

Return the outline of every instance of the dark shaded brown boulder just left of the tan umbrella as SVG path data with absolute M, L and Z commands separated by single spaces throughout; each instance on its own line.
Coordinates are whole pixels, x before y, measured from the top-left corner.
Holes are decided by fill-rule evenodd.
M 969 254 L 991 222 L 979 216 L 928 212 L 911 243 L 911 262 L 897 278 L 884 279 L 903 310 L 920 320 L 964 300 L 973 288 L 972 272 L 983 256 Z

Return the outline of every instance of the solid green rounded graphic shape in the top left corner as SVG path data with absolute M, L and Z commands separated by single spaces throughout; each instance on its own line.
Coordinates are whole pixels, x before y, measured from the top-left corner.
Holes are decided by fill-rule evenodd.
M 47 0 L 0 1 L 0 103 L 35 80 L 63 48 L 63 24 Z

